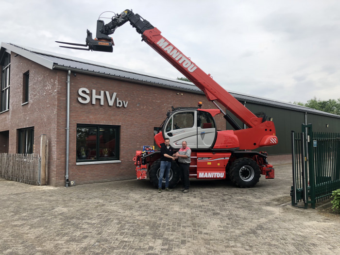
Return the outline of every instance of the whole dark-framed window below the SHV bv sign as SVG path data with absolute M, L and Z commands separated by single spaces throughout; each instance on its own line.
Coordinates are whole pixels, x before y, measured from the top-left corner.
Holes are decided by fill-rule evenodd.
M 77 161 L 119 160 L 119 126 L 77 125 Z

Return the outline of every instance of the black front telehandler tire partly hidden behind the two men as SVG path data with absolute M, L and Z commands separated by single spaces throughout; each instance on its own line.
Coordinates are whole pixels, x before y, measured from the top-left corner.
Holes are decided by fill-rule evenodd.
M 160 159 L 157 159 L 155 162 L 153 162 L 152 166 L 149 170 L 149 178 L 150 182 L 153 184 L 154 187 L 158 187 L 158 180 L 159 180 L 159 171 L 161 169 L 161 161 Z M 179 167 L 175 161 L 171 162 L 171 168 L 170 168 L 170 176 L 169 176 L 169 187 L 176 187 L 178 181 L 179 181 Z M 165 175 L 163 176 L 162 181 L 162 187 L 165 187 Z

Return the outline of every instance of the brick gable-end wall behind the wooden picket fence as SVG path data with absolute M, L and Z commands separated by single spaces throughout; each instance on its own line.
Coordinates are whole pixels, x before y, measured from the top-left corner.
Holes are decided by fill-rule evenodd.
M 8 153 L 18 152 L 18 129 L 34 127 L 34 153 L 40 153 L 39 136 L 46 134 L 50 142 L 50 178 L 55 171 L 57 71 L 15 55 L 11 55 L 9 111 L 0 114 L 0 132 L 8 131 Z M 23 74 L 28 70 L 29 102 L 22 104 Z

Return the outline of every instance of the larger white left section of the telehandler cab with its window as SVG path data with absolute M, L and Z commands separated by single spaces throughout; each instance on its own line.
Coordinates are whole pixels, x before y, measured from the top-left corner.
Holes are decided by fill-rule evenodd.
M 170 139 L 170 146 L 175 149 L 182 148 L 186 141 L 191 149 L 197 148 L 197 111 L 178 111 L 171 115 L 165 123 L 164 135 Z

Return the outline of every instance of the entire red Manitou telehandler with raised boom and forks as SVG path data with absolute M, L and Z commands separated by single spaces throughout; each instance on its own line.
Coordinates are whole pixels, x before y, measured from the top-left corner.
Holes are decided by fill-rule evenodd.
M 136 28 L 142 35 L 142 40 L 162 55 L 172 66 L 199 87 L 207 99 L 213 102 L 217 109 L 201 109 L 201 105 L 192 108 L 173 108 L 167 113 L 167 119 L 161 125 L 161 132 L 154 136 L 155 143 L 160 147 L 165 138 L 170 139 L 173 149 L 180 149 L 182 141 L 187 141 L 191 149 L 190 178 L 225 179 L 227 176 L 238 187 L 254 187 L 263 174 L 268 179 L 274 178 L 274 169 L 267 161 L 267 153 L 251 150 L 273 146 L 278 143 L 275 127 L 272 121 L 267 121 L 265 113 L 253 114 L 242 103 L 217 84 L 210 74 L 204 73 L 195 63 L 170 43 L 161 32 L 149 21 L 143 19 L 132 10 L 115 14 L 112 20 L 104 24 L 97 20 L 97 34 L 92 39 L 92 33 L 87 30 L 86 44 L 65 43 L 86 48 L 61 46 L 64 48 L 113 51 L 113 40 L 109 34 L 126 22 Z M 242 129 L 228 113 L 216 103 L 219 102 L 229 110 L 247 128 Z M 223 114 L 234 130 L 217 131 L 214 116 Z M 158 186 L 160 170 L 160 152 L 145 146 L 142 151 L 136 151 L 134 157 L 138 180 L 147 179 Z M 179 182 L 179 168 L 175 161 L 171 163 L 170 187 Z M 165 180 L 163 180 L 163 185 Z

